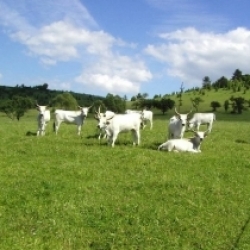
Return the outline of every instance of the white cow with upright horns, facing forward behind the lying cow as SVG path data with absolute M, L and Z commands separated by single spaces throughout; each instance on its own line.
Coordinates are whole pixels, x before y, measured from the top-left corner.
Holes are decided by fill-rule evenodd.
M 188 120 L 188 115 L 192 110 L 187 114 L 180 114 L 175 108 L 175 116 L 171 117 L 168 125 L 168 139 L 173 138 L 183 138 L 184 132 L 186 130 L 186 124 Z

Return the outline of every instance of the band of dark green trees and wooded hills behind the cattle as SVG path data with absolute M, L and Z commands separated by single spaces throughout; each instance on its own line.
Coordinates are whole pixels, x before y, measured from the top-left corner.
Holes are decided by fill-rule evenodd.
M 55 108 L 77 110 L 78 106 L 93 106 L 90 112 L 95 112 L 101 107 L 102 111 L 112 110 L 116 113 L 124 113 L 127 109 L 126 96 L 120 97 L 108 93 L 106 97 L 102 97 L 72 91 L 51 90 L 48 87 L 47 83 L 34 87 L 25 86 L 24 84 L 15 87 L 0 86 L 0 112 L 4 112 L 11 119 L 19 120 L 29 109 L 34 109 L 37 103 L 47 105 L 52 110 Z M 205 94 L 205 91 L 211 91 L 212 89 L 218 91 L 220 88 L 233 92 L 243 91 L 243 94 L 245 94 L 250 89 L 250 75 L 243 75 L 239 69 L 236 69 L 231 79 L 223 76 L 213 83 L 208 76 L 205 76 L 201 88 L 195 87 L 184 91 L 183 84 L 181 84 L 179 92 L 155 95 L 152 99 L 148 98 L 147 93 L 138 93 L 131 98 L 131 105 L 136 110 L 154 108 L 165 114 L 175 106 L 180 109 L 183 94 L 192 91 L 195 95 L 197 93 L 199 95 L 190 99 L 194 110 L 198 111 L 199 104 L 203 102 L 201 97 Z M 171 99 L 175 96 L 177 96 L 177 102 Z M 244 97 L 231 96 L 231 98 L 225 100 L 223 105 L 226 112 L 231 108 L 231 113 L 241 114 L 246 108 L 246 103 L 250 106 L 250 100 L 246 100 Z M 216 111 L 221 106 L 222 104 L 216 100 L 210 104 L 213 111 Z

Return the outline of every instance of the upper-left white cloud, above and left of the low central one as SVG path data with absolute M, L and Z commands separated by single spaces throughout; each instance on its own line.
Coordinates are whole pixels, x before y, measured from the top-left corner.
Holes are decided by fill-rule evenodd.
M 66 21 L 44 26 L 35 32 L 19 31 L 12 38 L 26 45 L 32 55 L 46 61 L 68 61 L 80 51 L 93 55 L 108 54 L 115 39 L 103 31 L 89 31 Z M 45 60 L 45 59 L 47 60 Z

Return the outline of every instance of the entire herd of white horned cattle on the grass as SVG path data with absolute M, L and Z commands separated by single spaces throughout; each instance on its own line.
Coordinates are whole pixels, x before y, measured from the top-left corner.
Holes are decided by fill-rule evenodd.
M 36 104 L 38 110 L 38 130 L 37 136 L 45 135 L 45 129 L 50 121 L 50 110 L 48 106 Z M 81 134 L 82 125 L 87 118 L 90 107 L 79 106 L 79 111 L 68 111 L 56 109 L 54 113 L 54 131 L 57 134 L 61 123 L 75 124 L 77 134 Z M 175 109 L 175 115 L 170 118 L 168 123 L 168 140 L 158 147 L 158 150 L 175 151 L 175 152 L 201 152 L 200 146 L 203 139 L 211 133 L 214 113 L 195 113 L 191 119 L 188 115 L 180 114 Z M 131 131 L 133 135 L 133 145 L 140 144 L 140 130 L 144 129 L 146 122 L 150 123 L 150 129 L 153 128 L 153 112 L 150 110 L 126 110 L 125 114 L 116 114 L 112 111 L 101 113 L 100 107 L 95 111 L 95 119 L 98 121 L 97 127 L 100 129 L 98 139 L 107 138 L 108 143 L 114 147 L 116 139 L 121 132 Z M 207 125 L 206 131 L 199 131 L 200 125 Z M 195 129 L 195 130 L 194 130 Z M 193 137 L 183 138 L 185 131 L 191 130 Z

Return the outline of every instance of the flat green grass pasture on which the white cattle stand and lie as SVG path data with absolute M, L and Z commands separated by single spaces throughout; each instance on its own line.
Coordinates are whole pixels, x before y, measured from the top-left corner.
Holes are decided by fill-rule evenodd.
M 249 112 L 218 113 L 200 154 L 157 151 L 168 119 L 111 148 L 91 114 L 80 137 L 0 114 L 0 249 L 250 249 Z

